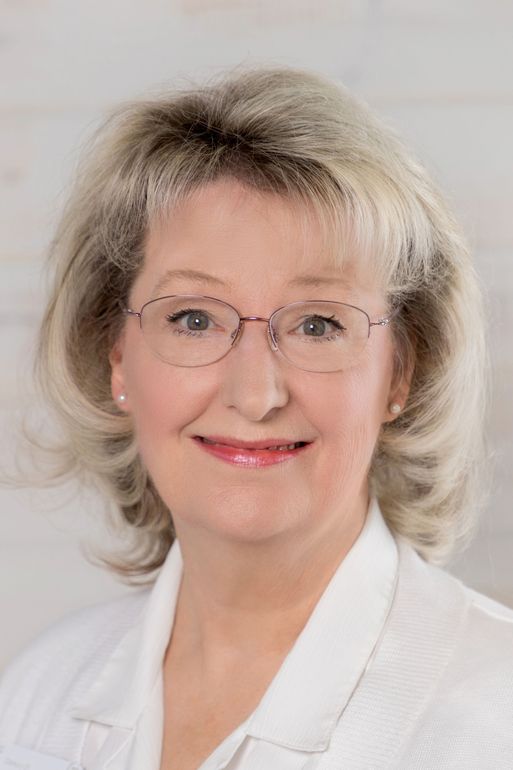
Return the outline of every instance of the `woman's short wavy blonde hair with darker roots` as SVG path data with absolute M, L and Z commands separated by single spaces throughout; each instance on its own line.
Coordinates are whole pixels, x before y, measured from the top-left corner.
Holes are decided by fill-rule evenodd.
M 100 563 L 130 581 L 156 570 L 175 538 L 131 417 L 113 403 L 109 353 L 149 228 L 222 177 L 313 207 L 337 264 L 350 239 L 400 306 L 396 358 L 413 366 L 411 389 L 382 426 L 370 486 L 394 533 L 447 561 L 484 500 L 486 334 L 469 248 L 426 170 L 365 104 L 319 74 L 264 66 L 116 108 L 82 156 L 52 241 L 36 372 L 62 429 L 54 477 L 97 482 L 130 540 Z

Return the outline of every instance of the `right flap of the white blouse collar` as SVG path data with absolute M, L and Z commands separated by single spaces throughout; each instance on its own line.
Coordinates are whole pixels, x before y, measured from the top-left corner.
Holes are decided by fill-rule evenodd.
M 257 738 L 323 751 L 365 673 L 392 606 L 398 554 L 373 498 L 338 566 L 247 726 Z

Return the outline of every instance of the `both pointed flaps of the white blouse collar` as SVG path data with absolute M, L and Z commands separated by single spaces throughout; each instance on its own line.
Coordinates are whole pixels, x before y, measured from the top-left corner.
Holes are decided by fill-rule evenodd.
M 383 630 L 397 563 L 395 540 L 372 498 L 358 538 L 246 721 L 248 735 L 303 751 L 327 748 Z M 74 704 L 72 716 L 135 726 L 161 676 L 182 570 L 175 540 L 139 622 L 111 653 L 93 687 Z

